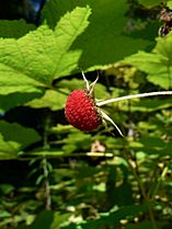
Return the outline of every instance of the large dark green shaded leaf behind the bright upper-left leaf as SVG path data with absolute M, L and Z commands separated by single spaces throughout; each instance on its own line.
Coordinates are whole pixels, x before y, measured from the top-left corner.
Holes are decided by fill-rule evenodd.
M 82 69 L 105 68 L 138 49 L 150 49 L 150 46 L 154 44 L 157 25 L 153 30 L 152 24 L 149 23 L 144 28 L 144 33 L 141 33 L 141 28 L 135 32 L 127 30 L 125 0 L 51 0 L 45 5 L 43 18 L 51 28 L 55 28 L 60 16 L 76 5 L 90 5 L 92 9 L 89 26 L 71 46 L 72 49 L 83 50 L 79 61 Z M 149 33 L 147 33 L 147 28 L 150 26 L 151 30 L 148 30 Z

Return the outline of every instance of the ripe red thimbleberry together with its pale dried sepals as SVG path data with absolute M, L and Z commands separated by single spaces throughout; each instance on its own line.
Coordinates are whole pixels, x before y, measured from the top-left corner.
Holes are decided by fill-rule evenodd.
M 102 123 L 108 121 L 123 136 L 117 125 L 101 108 L 98 107 L 98 103 L 94 101 L 93 91 L 99 77 L 91 84 L 89 84 L 83 72 L 82 77 L 85 83 L 85 89 L 72 91 L 67 99 L 65 107 L 67 121 L 72 126 L 83 131 L 96 129 Z

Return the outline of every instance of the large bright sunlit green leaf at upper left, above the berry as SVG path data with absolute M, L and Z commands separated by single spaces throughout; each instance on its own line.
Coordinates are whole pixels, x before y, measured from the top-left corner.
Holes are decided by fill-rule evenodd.
M 70 50 L 88 26 L 90 8 L 76 8 L 60 19 L 55 31 L 39 26 L 19 39 L 0 39 L 0 94 L 39 92 L 54 79 L 77 68 L 81 50 Z

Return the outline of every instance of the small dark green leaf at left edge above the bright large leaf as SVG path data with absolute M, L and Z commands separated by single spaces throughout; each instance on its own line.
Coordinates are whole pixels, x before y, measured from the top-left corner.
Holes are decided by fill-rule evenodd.
M 3 38 L 19 38 L 35 28 L 34 24 L 27 24 L 23 19 L 13 21 L 0 20 L 0 37 Z

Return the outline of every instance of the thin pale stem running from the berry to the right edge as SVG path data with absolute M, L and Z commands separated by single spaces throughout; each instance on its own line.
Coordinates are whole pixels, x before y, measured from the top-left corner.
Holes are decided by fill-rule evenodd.
M 118 102 L 123 100 L 131 100 L 136 98 L 148 98 L 148 96 L 156 96 L 156 95 L 172 95 L 172 91 L 154 91 L 154 92 L 147 92 L 147 93 L 141 93 L 141 94 L 125 95 L 121 98 L 115 98 L 115 99 L 110 99 L 110 100 L 98 102 L 96 106 L 103 106 L 108 103 L 114 103 L 114 102 Z

